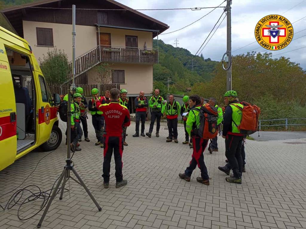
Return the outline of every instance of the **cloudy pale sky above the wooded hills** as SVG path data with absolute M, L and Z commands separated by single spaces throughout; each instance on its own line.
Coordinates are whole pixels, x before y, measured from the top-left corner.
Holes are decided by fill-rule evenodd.
M 211 7 L 219 5 L 223 0 L 117 0 L 124 5 L 133 9 L 162 9 L 162 8 L 194 8 L 194 7 Z M 226 5 L 226 2 L 222 4 Z M 292 9 L 291 9 L 292 8 Z M 160 20 L 170 26 L 164 33 L 177 30 L 185 25 L 199 19 L 211 9 L 202 10 L 160 10 L 160 11 L 142 11 L 157 20 Z M 188 49 L 192 54 L 195 54 L 201 44 L 217 22 L 223 9 L 215 9 L 212 13 L 205 16 L 200 21 L 191 26 L 167 35 L 159 35 L 165 43 L 174 45 L 174 40 L 177 38 L 179 47 Z M 306 46 L 306 0 L 233 0 L 232 1 L 232 51 L 248 45 L 254 41 L 254 29 L 257 22 L 264 16 L 269 14 L 280 14 L 286 17 L 292 24 L 294 29 L 293 39 L 287 47 L 278 51 L 271 51 L 274 55 L 287 52 L 293 49 L 298 49 Z M 301 18 L 305 17 L 302 20 Z M 223 16 L 222 16 L 223 18 Z M 295 21 L 298 22 L 294 23 Z M 221 21 L 221 20 L 220 20 Z M 305 30 L 304 30 L 305 29 Z M 304 30 L 304 31 L 302 31 Z M 299 32 L 301 31 L 301 32 Z M 297 33 L 299 32 L 299 33 Z M 304 36 L 305 37 L 302 37 Z M 246 53 L 250 50 L 262 52 L 264 48 L 256 42 L 245 48 L 232 52 L 233 55 Z M 226 18 L 211 38 L 210 42 L 203 49 L 204 57 L 210 57 L 212 60 L 221 60 L 223 53 L 226 51 Z M 276 55 L 290 57 L 294 62 L 300 63 L 301 67 L 306 69 L 306 48 L 299 49 L 293 52 Z

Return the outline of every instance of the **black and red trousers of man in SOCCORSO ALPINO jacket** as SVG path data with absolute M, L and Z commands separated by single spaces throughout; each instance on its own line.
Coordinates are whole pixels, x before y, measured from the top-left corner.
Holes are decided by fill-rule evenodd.
M 120 182 L 123 179 L 122 175 L 122 153 L 123 153 L 123 144 L 122 136 L 112 137 L 104 135 L 104 161 L 103 161 L 103 179 L 104 183 L 110 182 L 110 161 L 114 152 L 115 160 L 115 177 L 116 182 Z

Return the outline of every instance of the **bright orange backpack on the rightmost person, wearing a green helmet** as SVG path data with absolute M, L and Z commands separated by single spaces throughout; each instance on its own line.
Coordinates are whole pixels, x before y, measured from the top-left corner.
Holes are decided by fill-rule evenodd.
M 250 135 L 257 131 L 258 129 L 258 120 L 260 115 L 260 108 L 257 107 L 255 104 L 249 104 L 247 102 L 241 102 L 244 107 L 235 107 L 239 108 L 242 111 L 242 119 L 239 126 L 234 123 L 237 128 L 239 129 L 240 133 L 243 135 Z

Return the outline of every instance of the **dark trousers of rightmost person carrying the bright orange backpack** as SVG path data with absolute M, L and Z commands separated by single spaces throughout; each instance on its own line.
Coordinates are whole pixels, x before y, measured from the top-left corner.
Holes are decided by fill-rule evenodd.
M 225 156 L 229 161 L 235 178 L 242 174 L 241 144 L 243 136 L 227 134 L 225 138 Z

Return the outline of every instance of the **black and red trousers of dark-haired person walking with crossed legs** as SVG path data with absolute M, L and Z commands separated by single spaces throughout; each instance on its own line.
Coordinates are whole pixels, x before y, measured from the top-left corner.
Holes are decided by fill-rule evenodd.
M 193 152 L 192 152 L 192 159 L 189 163 L 189 166 L 185 170 L 185 174 L 187 176 L 190 177 L 192 175 L 193 170 L 195 170 L 196 166 L 198 165 L 198 167 L 201 170 L 201 177 L 204 180 L 209 179 L 207 167 L 205 165 L 204 155 L 203 155 L 203 152 L 207 146 L 207 142 L 208 140 L 205 140 L 203 138 L 196 137 L 196 136 L 192 137 Z

